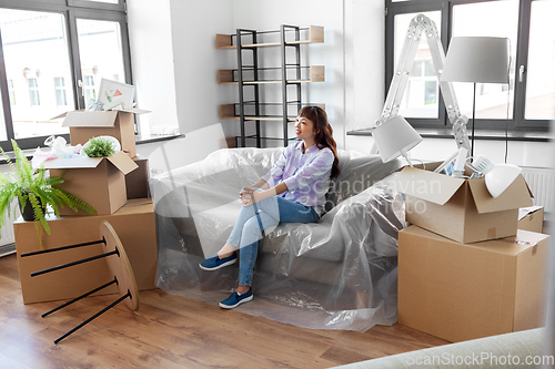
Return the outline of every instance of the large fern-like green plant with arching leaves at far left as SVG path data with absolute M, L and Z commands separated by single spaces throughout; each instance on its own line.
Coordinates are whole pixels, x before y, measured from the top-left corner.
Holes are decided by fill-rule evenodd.
M 83 201 L 68 194 L 56 185 L 63 183 L 62 176 L 46 176 L 44 165 L 39 170 L 33 170 L 31 163 L 18 146 L 14 140 L 11 141 L 16 162 L 0 147 L 0 153 L 11 167 L 11 173 L 0 173 L 0 228 L 6 223 L 6 216 L 10 216 L 11 204 L 18 197 L 21 212 L 29 203 L 33 209 L 33 221 L 42 248 L 42 237 L 40 227 L 50 235 L 50 227 L 46 219 L 47 206 L 51 206 L 57 216 L 60 216 L 59 206 L 69 206 L 73 211 L 83 209 L 93 215 L 97 211 Z

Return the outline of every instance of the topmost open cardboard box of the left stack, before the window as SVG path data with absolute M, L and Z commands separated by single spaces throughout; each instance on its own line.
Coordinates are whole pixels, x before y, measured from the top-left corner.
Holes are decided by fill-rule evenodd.
M 62 126 L 70 129 L 70 141 L 73 146 L 84 145 L 87 141 L 98 136 L 115 137 L 121 150 L 130 157 L 137 156 L 133 114 L 149 113 L 141 109 L 112 110 L 105 112 L 73 111 L 53 119 L 65 117 Z

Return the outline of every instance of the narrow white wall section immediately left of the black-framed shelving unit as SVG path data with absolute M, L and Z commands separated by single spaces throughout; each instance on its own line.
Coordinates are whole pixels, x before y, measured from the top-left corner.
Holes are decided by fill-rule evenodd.
M 216 33 L 234 31 L 233 1 L 170 0 L 170 6 L 179 127 L 186 134 L 219 123 L 218 106 L 233 102 L 232 86 L 219 85 L 216 73 L 235 64 L 234 53 L 215 49 Z

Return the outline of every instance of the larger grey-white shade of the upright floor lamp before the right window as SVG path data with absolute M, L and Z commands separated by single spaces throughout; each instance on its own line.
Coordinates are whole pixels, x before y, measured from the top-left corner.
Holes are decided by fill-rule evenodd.
M 440 81 L 508 83 L 507 38 L 452 38 Z

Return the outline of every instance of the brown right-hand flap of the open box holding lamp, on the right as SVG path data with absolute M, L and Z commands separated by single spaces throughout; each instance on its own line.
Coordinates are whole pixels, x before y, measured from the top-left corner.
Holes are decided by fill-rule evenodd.
M 532 194 L 522 175 L 518 175 L 497 198 L 494 198 L 487 191 L 485 178 L 471 180 L 468 186 L 481 214 L 532 206 Z

